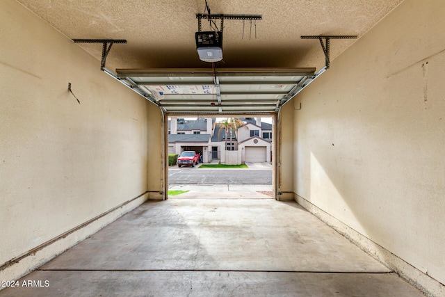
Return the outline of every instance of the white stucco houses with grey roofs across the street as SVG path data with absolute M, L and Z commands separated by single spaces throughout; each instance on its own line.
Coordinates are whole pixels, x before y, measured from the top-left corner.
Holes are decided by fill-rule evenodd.
M 272 125 L 261 118 L 240 118 L 245 123 L 225 138 L 225 131 L 215 125 L 216 118 L 171 118 L 168 121 L 168 152 L 181 154 L 194 150 L 204 162 L 220 160 L 221 163 L 272 161 Z

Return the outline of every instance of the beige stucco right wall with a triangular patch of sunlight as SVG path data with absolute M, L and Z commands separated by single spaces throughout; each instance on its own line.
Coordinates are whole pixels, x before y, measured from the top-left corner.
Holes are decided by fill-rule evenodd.
M 442 284 L 444 15 L 404 1 L 289 103 L 297 197 Z

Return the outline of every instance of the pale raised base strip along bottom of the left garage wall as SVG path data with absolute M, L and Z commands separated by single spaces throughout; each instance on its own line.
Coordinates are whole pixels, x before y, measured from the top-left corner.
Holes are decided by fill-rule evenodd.
M 136 198 L 128 200 L 117 207 L 113 207 L 104 214 L 96 216 L 72 230 L 60 234 L 54 239 L 42 243 L 40 246 L 29 250 L 24 255 L 11 259 L 0 267 L 0 280 L 17 280 L 35 270 L 42 264 L 60 255 L 65 250 L 72 248 L 83 239 L 95 234 L 106 225 L 120 218 L 127 212 L 135 209 L 147 201 L 148 193 L 143 193 Z M 0 290 L 3 289 L 0 287 Z

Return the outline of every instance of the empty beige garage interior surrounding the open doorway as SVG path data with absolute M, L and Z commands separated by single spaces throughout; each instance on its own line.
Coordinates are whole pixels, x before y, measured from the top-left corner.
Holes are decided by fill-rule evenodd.
M 211 15 L 207 8 L 244 17 L 212 24 L 224 29 L 218 63 L 197 55 L 197 14 Z M 367 296 L 398 287 L 405 296 L 418 296 L 416 289 L 445 296 L 444 13 L 441 0 L 1 1 L 0 280 L 26 280 L 31 271 L 43 284 L 59 279 L 47 288 L 2 286 L 0 296 L 68 290 L 63 280 L 81 296 L 88 286 L 76 280 L 89 273 L 97 282 L 84 296 L 118 294 L 119 280 L 132 284 L 133 296 L 147 294 L 138 291 L 143 285 L 163 292 L 172 283 L 170 296 L 227 295 L 225 286 L 233 295 Z M 170 82 L 213 90 L 156 94 Z M 274 116 L 277 200 L 240 200 L 230 209 L 220 200 L 165 200 L 165 122 L 188 114 Z M 191 203 L 202 216 L 188 212 Z M 273 223 L 262 225 L 259 209 Z M 177 220 L 190 229 L 163 236 Z M 243 245 L 218 254 L 198 240 L 196 226 L 204 225 L 204 240 L 218 221 L 232 226 L 233 237 L 216 241 L 225 252 L 236 239 L 267 241 L 257 255 L 270 266 L 239 252 Z M 157 231 L 137 246 L 119 240 L 129 229 L 139 241 L 144 230 Z M 320 230 L 329 240 L 308 235 Z M 133 256 L 129 267 L 144 257 L 165 261 L 161 255 L 172 262 L 126 268 L 121 278 L 113 252 L 99 250 L 85 263 L 73 256 L 101 237 L 109 251 Z M 313 239 L 312 256 L 302 238 Z M 162 239 L 207 246 L 183 253 L 170 246 L 169 256 Z M 323 250 L 330 242 L 342 248 Z M 370 266 L 348 267 L 355 248 L 354 259 L 369 257 Z M 227 257 L 218 262 L 220 255 Z

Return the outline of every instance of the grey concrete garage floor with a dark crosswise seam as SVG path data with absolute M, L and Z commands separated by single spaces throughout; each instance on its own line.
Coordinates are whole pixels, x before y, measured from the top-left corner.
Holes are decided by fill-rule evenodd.
M 295 202 L 177 197 L 22 279 L 49 287 L 0 296 L 423 296 Z

